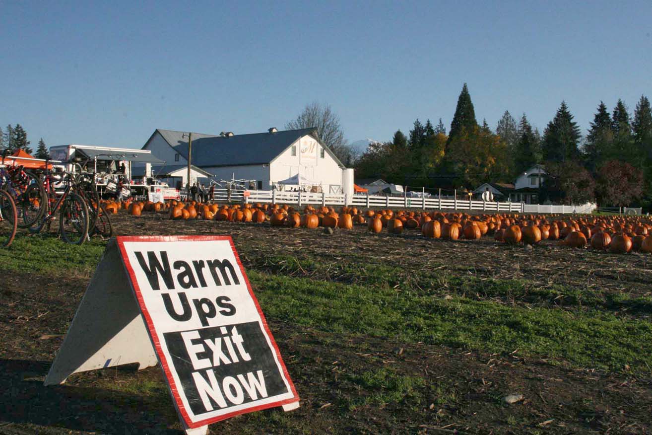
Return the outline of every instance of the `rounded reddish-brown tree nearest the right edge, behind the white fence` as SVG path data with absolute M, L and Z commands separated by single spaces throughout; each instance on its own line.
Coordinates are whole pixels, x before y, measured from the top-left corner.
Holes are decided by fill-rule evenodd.
M 600 206 L 624 207 L 643 194 L 643 172 L 627 162 L 609 160 L 598 169 L 596 193 Z

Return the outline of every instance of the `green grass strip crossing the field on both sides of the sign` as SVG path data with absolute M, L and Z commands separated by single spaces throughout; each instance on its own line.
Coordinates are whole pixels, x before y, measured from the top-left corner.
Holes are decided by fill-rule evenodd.
M 23 236 L 12 248 L 0 250 L 0 269 L 90 275 L 104 245 L 93 240 L 78 247 L 54 237 Z M 297 262 L 274 256 L 264 263 L 253 261 L 248 275 L 271 320 L 325 333 L 389 337 L 502 354 L 518 350 L 518 355 L 572 367 L 622 371 L 629 365 L 637 372 L 649 372 L 652 367 L 649 320 L 606 309 L 627 307 L 649 313 L 649 298 L 563 286 L 535 288 L 521 280 L 437 275 L 358 260 L 322 265 L 324 262 L 312 258 Z M 310 278 L 295 276 L 300 274 Z M 541 305 L 482 300 L 479 293 Z M 560 297 L 567 305 L 591 309 L 550 309 L 548 304 Z

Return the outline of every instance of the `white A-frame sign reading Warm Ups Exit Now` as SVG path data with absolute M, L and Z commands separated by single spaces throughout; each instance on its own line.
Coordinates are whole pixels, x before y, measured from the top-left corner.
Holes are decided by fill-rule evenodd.
M 45 384 L 157 361 L 188 434 L 241 413 L 299 407 L 231 237 L 112 239 Z

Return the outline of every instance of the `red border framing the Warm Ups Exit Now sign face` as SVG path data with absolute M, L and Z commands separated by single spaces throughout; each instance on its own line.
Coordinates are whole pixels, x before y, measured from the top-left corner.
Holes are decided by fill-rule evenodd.
M 294 383 L 289 377 L 288 369 L 286 368 L 286 365 L 283 362 L 280 350 L 278 350 L 278 346 L 276 345 L 276 341 L 274 340 L 274 336 L 272 335 L 271 331 L 269 331 L 267 320 L 265 319 L 265 315 L 263 314 L 263 311 L 260 309 L 260 305 L 258 304 L 258 299 L 256 298 L 256 295 L 254 295 L 254 292 L 251 290 L 251 284 L 249 283 L 249 278 L 246 276 L 246 273 L 244 273 L 243 264 L 240 261 L 240 256 L 238 255 L 237 250 L 235 250 L 235 245 L 233 245 L 233 239 L 231 238 L 230 235 L 121 235 L 116 237 L 116 239 L 117 239 L 118 247 L 120 248 L 120 254 L 123 259 L 123 264 L 125 265 L 127 275 L 129 275 L 132 288 L 134 289 L 134 293 L 136 293 L 136 299 L 138 300 L 138 305 L 141 308 L 141 312 L 143 313 L 143 317 L 145 318 L 145 323 L 147 323 L 147 329 L 149 330 L 150 337 L 156 349 L 156 356 L 158 357 L 158 361 L 161 363 L 161 367 L 163 367 L 163 372 L 165 373 L 165 376 L 168 379 L 168 385 L 170 386 L 172 397 L 174 398 L 177 404 L 177 410 L 179 410 L 179 413 L 181 414 L 181 417 L 183 417 L 183 421 L 186 423 L 187 427 L 196 428 L 204 425 L 210 425 L 211 423 L 216 423 L 217 421 L 222 421 L 230 417 L 235 417 L 235 415 L 240 415 L 240 414 L 259 411 L 259 410 L 265 410 L 267 408 L 274 408 L 276 406 L 282 406 L 288 403 L 299 401 L 299 395 L 297 394 L 297 390 L 295 389 Z M 263 328 L 265 329 L 265 333 L 267 333 L 267 337 L 269 337 L 269 340 L 274 348 L 274 352 L 276 352 L 276 358 L 280 363 L 281 369 L 283 371 L 284 376 L 286 377 L 286 380 L 288 380 L 290 390 L 294 397 L 287 398 L 285 400 L 279 400 L 278 402 L 253 406 L 251 408 L 245 408 L 244 410 L 234 411 L 234 412 L 226 413 L 224 415 L 218 415 L 217 417 L 212 417 L 209 419 L 193 422 L 190 419 L 190 415 L 188 415 L 188 412 L 186 411 L 183 402 L 181 401 L 179 390 L 177 389 L 177 385 L 174 382 L 174 378 L 172 377 L 170 364 L 166 360 L 166 357 L 161 348 L 160 340 L 158 339 L 158 335 L 156 335 L 154 322 L 152 321 L 152 318 L 149 315 L 149 312 L 147 311 L 147 307 L 145 307 L 145 301 L 143 299 L 142 293 L 140 292 L 140 287 L 138 286 L 138 281 L 136 280 L 136 274 L 134 273 L 134 269 L 131 267 L 131 263 L 129 262 L 129 258 L 126 254 L 124 243 L 125 242 L 218 241 L 218 240 L 228 240 L 231 245 L 231 250 L 233 250 L 233 256 L 235 256 L 235 261 L 238 263 L 238 266 L 240 267 L 240 271 L 244 277 L 244 281 L 246 282 L 246 288 L 249 291 L 250 297 L 254 301 L 254 305 L 256 305 L 256 310 L 258 311 L 260 320 L 263 323 Z

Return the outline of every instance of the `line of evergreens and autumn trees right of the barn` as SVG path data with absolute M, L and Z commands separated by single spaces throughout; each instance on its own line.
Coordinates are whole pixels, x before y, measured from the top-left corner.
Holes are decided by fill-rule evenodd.
M 357 178 L 428 188 L 466 188 L 482 183 L 513 183 L 540 164 L 548 172 L 539 188 L 541 201 L 600 206 L 652 205 L 652 111 L 645 95 L 630 115 L 618 100 L 612 112 L 604 102 L 585 136 L 565 101 L 544 131 L 527 115 L 505 111 L 496 129 L 478 123 L 466 83 L 447 134 L 439 118 L 434 127 L 417 119 L 406 136 L 369 145 L 355 160 Z

